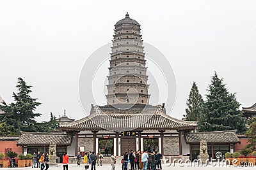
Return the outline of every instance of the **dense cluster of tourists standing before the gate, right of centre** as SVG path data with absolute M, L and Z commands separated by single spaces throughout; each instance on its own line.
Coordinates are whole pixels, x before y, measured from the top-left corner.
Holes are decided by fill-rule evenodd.
M 154 151 L 148 152 L 147 150 L 143 151 L 133 151 L 130 153 L 125 151 L 123 155 L 122 162 L 122 170 L 135 170 L 135 169 L 143 169 L 143 170 L 156 170 L 162 169 L 161 161 L 163 159 L 163 155 L 161 153 Z M 129 166 L 129 167 L 128 167 Z

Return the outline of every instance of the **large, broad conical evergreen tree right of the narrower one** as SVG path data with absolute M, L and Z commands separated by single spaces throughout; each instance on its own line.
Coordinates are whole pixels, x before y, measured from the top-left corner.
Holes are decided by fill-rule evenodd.
M 206 101 L 198 121 L 199 131 L 225 131 L 237 129 L 244 131 L 244 118 L 239 110 L 239 102 L 235 94 L 228 92 L 223 79 L 215 72 L 211 85 L 207 89 Z

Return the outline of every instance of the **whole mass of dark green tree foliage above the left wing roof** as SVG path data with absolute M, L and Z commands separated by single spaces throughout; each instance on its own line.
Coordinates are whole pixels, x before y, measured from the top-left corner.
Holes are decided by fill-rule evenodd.
M 0 115 L 0 135 L 20 135 L 20 131 L 51 132 L 57 129 L 58 122 L 52 113 L 49 122 L 36 122 L 35 118 L 40 117 L 41 113 L 35 111 L 41 103 L 30 96 L 32 86 L 18 78 L 16 87 L 18 92 L 13 92 L 14 102 L 6 104 L 3 101 L 0 104 L 0 110 L 4 111 Z

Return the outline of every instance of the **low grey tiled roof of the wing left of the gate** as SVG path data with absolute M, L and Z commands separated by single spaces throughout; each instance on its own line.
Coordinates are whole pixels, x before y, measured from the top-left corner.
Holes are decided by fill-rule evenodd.
M 24 133 L 20 136 L 17 145 L 71 145 L 72 136 L 68 134 Z

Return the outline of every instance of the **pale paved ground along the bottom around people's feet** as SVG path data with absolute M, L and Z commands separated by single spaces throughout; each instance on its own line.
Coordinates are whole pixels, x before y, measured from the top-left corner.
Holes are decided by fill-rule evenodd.
M 15 168 L 0 168 L 0 170 L 10 170 L 10 169 L 31 169 L 31 170 L 40 170 L 39 168 L 32 168 L 32 167 L 15 167 Z M 63 169 L 63 166 L 61 164 L 59 164 L 58 166 L 50 166 L 49 167 L 49 170 L 62 170 Z M 242 169 L 255 169 L 255 167 L 234 167 L 234 166 L 211 166 L 211 165 L 208 165 L 206 167 L 188 167 L 188 166 L 184 166 L 184 167 L 181 167 L 181 166 L 166 166 L 163 164 L 163 170 L 176 170 L 176 169 L 193 169 L 193 170 L 196 170 L 196 169 L 207 169 L 207 170 L 218 170 L 218 169 L 230 169 L 230 170 L 242 170 Z M 68 165 L 68 170 L 84 170 L 84 165 L 81 164 L 81 166 L 77 166 L 75 164 L 69 164 Z M 90 170 L 90 168 L 88 169 Z M 111 170 L 111 165 L 110 164 L 105 164 L 103 166 L 96 166 L 96 170 Z M 122 164 L 116 164 L 116 170 L 122 170 Z

